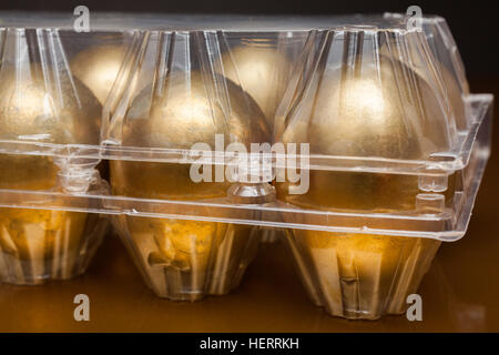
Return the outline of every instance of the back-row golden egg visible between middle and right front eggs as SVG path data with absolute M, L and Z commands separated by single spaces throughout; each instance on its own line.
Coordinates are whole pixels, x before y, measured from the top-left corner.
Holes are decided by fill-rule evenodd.
M 224 74 L 256 101 L 273 128 L 291 67 L 286 55 L 275 48 L 254 44 L 227 51 L 222 60 Z

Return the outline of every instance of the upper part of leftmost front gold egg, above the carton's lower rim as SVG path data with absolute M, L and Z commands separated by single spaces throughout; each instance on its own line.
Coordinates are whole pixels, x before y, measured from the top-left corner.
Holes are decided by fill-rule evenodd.
M 59 92 L 41 79 L 0 80 L 0 136 L 57 144 L 98 144 L 101 105 L 78 79 L 61 80 Z M 60 94 L 63 97 L 60 97 Z M 58 168 L 51 158 L 0 154 L 6 169 L 0 185 L 40 190 L 53 186 Z

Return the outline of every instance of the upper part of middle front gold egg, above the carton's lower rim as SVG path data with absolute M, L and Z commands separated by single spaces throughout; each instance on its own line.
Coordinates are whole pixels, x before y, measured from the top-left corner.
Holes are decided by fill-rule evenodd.
M 211 102 L 196 72 L 187 85 L 180 75 L 169 78 L 165 94 L 154 101 L 151 89 L 144 89 L 124 119 L 122 145 L 191 149 L 202 142 L 214 149 L 215 134 L 224 136 L 225 145 L 241 142 L 249 149 L 252 142 L 267 142 L 269 132 L 259 108 L 228 80 L 227 89 L 231 112 Z M 111 166 L 113 190 L 119 194 L 182 200 L 226 195 L 226 179 L 196 183 L 190 164 L 113 161 Z

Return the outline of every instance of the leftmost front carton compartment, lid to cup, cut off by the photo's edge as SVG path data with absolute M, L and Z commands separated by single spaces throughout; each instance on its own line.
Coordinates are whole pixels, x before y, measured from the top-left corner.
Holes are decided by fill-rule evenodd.
M 79 49 L 95 38 L 122 40 L 93 37 L 79 37 Z M 99 146 L 102 104 L 72 73 L 73 38 L 57 28 L 0 29 L 0 187 L 10 201 L 0 213 L 6 283 L 41 284 L 83 273 L 108 225 L 103 215 L 88 213 L 99 203 L 86 197 L 79 211 L 52 207 L 73 194 L 108 191 L 99 154 L 79 156 Z

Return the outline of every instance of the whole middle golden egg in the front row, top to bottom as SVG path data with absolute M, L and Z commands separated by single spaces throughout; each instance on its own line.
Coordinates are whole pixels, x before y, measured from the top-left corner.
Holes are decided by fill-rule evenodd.
M 123 146 L 190 149 L 203 142 L 214 149 L 215 134 L 222 134 L 225 144 L 241 142 L 249 146 L 251 142 L 268 141 L 258 105 L 230 80 L 228 112 L 220 101 L 210 99 L 197 72 L 189 79 L 172 75 L 164 84 L 162 97 L 151 98 L 149 88 L 133 100 L 123 121 Z M 112 190 L 116 195 L 183 201 L 226 196 L 226 180 L 195 183 L 190 168 L 179 163 L 111 161 Z M 175 213 L 182 214 L 182 210 L 179 206 Z M 161 207 L 157 212 L 162 212 Z M 206 287 L 215 294 L 228 292 L 230 275 L 240 270 L 234 257 L 247 245 L 247 239 L 241 235 L 245 232 L 235 235 L 235 229 L 226 223 L 131 216 L 123 225 L 154 291 L 174 300 L 198 300 Z M 211 268 L 216 272 L 210 272 Z

